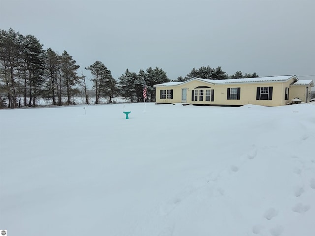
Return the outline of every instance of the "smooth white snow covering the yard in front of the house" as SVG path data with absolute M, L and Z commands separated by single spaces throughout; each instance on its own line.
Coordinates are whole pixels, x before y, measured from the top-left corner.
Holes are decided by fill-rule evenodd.
M 145 106 L 0 110 L 0 228 L 314 236 L 315 105 Z

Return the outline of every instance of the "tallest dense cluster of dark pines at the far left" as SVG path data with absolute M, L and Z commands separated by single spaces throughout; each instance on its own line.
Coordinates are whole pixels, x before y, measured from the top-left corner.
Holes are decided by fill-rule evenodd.
M 64 96 L 70 104 L 79 92 L 79 67 L 66 51 L 44 50 L 33 35 L 0 30 L 0 106 L 5 100 L 9 108 L 35 106 L 39 97 L 62 105 Z

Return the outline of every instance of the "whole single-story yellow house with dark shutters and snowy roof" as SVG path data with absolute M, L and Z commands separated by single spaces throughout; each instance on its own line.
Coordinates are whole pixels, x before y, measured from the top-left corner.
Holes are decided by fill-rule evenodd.
M 295 75 L 211 80 L 192 78 L 184 82 L 155 85 L 156 103 L 189 103 L 209 106 L 282 106 L 294 98 L 310 102 L 313 80 Z

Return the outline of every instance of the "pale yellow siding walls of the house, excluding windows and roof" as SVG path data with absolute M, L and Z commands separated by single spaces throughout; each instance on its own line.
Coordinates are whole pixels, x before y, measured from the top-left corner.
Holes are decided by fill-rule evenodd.
M 191 80 L 187 83 L 177 86 L 158 86 L 156 87 L 157 103 L 180 103 L 182 102 L 182 89 L 187 89 L 187 103 L 194 105 L 227 105 L 227 106 L 242 106 L 246 104 L 262 105 L 262 106 L 282 106 L 290 102 L 294 97 L 306 99 L 306 96 L 301 97 L 306 93 L 306 86 L 292 86 L 296 81 L 295 77 L 286 81 L 277 82 L 253 82 L 253 83 L 229 83 L 229 84 L 213 84 L 202 80 Z M 203 87 L 203 88 L 198 88 Z M 272 87 L 272 100 L 257 100 L 257 87 Z M 227 99 L 229 89 L 240 88 L 240 99 Z M 285 88 L 289 88 L 289 99 L 285 100 Z M 160 99 L 161 89 L 173 89 L 173 99 Z M 210 101 L 206 101 L 206 90 L 211 90 Z M 192 91 L 197 90 L 197 101 L 192 100 Z M 203 90 L 203 101 L 200 101 L 200 90 Z M 309 89 L 311 91 L 311 88 Z M 231 90 L 230 90 L 231 91 Z M 213 94 L 214 93 L 214 94 Z M 214 95 L 214 99 L 212 98 Z M 213 101 L 212 101 L 213 99 Z

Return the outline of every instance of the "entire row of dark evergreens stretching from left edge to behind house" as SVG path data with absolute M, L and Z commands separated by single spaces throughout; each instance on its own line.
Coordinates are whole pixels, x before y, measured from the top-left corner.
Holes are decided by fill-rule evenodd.
M 123 96 L 131 102 L 143 101 L 143 87 L 147 87 L 149 101 L 155 101 L 156 84 L 169 82 L 166 72 L 161 68 L 149 67 L 138 73 L 125 73 L 115 80 L 111 71 L 101 62 L 96 60 L 92 65 L 85 67 L 90 71 L 92 91 L 87 88 L 86 76 L 79 76 L 79 65 L 66 51 L 62 55 L 48 48 L 43 49 L 43 44 L 33 35 L 22 35 L 14 29 L 0 30 L 0 108 L 16 108 L 22 106 L 35 106 L 36 99 L 51 99 L 53 105 L 72 103 L 72 98 L 84 93 L 85 102 L 89 103 L 89 94 L 93 92 L 95 104 L 100 97 L 112 98 Z M 237 71 L 228 76 L 221 67 L 193 68 L 185 78 L 178 77 L 175 81 L 186 81 L 198 77 L 204 79 L 228 79 L 258 77 L 256 73 L 245 74 Z

